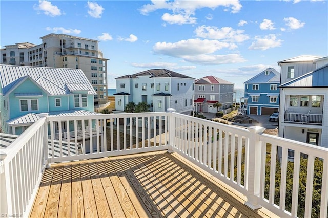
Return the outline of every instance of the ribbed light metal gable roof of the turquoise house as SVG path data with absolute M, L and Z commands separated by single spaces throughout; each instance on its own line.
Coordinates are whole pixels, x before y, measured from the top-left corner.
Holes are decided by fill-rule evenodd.
M 91 83 L 81 69 L 46 68 L 0 64 L 1 88 L 5 95 L 26 77 L 40 85 L 50 95 L 65 95 L 72 91 L 66 84 L 74 83 L 79 90 L 96 94 Z

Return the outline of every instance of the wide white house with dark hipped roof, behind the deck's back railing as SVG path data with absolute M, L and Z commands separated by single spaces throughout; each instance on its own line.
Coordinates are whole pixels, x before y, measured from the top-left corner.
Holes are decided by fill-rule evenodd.
M 129 102 L 146 102 L 151 112 L 193 110 L 194 78 L 167 69 L 151 69 L 116 78 L 115 111 L 121 113 Z

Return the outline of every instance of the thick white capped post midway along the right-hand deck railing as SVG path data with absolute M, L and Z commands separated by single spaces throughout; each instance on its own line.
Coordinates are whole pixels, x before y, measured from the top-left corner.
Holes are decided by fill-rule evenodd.
M 245 168 L 245 175 L 247 176 L 247 202 L 245 205 L 255 210 L 262 206 L 258 204 L 258 198 L 260 195 L 260 181 L 261 177 L 261 141 L 259 141 L 259 134 L 262 134 L 265 128 L 260 126 L 247 127 L 250 131 L 249 147 L 247 156 L 247 168 Z

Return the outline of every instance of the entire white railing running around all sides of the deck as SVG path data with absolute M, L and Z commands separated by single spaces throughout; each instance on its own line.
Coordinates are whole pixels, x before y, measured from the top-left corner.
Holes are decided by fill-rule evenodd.
M 40 198 L 38 187 L 50 163 L 167 150 L 244 195 L 251 209 L 264 207 L 278 217 L 297 217 L 300 211 L 304 217 L 327 217 L 328 148 L 263 134 L 264 128 L 258 126 L 244 129 L 168 111 L 39 114 L 38 121 L 0 150 L 0 213 L 28 216 L 34 200 Z M 59 130 L 57 139 L 55 124 L 61 129 L 62 122 L 76 126 L 74 137 L 63 140 Z M 78 123 L 92 137 L 87 130 L 78 138 Z M 292 163 L 289 150 L 294 151 Z M 305 169 L 300 166 L 301 154 L 307 155 Z M 314 182 L 314 174 L 319 182 Z M 300 193 L 304 186 L 306 191 Z

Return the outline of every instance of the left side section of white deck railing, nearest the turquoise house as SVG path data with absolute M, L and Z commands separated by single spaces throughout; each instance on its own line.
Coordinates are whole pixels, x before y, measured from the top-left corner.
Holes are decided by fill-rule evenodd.
M 47 164 L 47 114 L 31 125 L 0 155 L 0 213 L 27 217 Z

